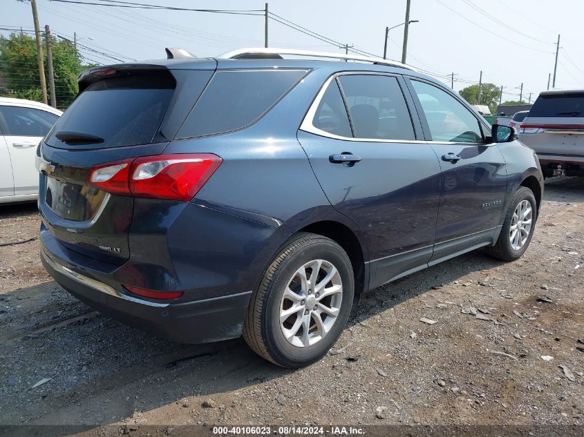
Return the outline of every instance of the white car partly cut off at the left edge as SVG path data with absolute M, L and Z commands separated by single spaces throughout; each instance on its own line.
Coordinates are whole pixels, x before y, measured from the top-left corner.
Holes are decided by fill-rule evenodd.
M 37 146 L 61 115 L 37 101 L 0 97 L 0 204 L 37 198 Z

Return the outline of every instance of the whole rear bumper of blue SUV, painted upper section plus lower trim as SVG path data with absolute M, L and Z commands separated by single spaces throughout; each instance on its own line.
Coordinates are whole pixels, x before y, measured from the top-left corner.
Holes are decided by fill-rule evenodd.
M 131 256 L 122 265 L 65 246 L 43 217 L 41 259 L 48 273 L 98 311 L 170 340 L 241 336 L 252 290 L 289 234 L 196 204 L 142 200 L 135 205 Z M 171 301 L 147 300 L 122 284 L 183 294 Z

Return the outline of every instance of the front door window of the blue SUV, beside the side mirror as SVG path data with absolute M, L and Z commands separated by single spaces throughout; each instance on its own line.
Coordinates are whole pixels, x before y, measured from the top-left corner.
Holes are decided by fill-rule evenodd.
M 483 142 L 478 119 L 460 101 L 426 82 L 411 82 L 424 110 L 432 141 Z

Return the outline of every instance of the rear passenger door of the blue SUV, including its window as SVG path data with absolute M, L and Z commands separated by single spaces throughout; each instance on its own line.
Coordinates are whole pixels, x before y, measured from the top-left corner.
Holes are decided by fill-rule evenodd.
M 366 237 L 370 287 L 426 266 L 435 238 L 440 164 L 404 86 L 381 73 L 330 77 L 298 133 L 328 200 Z

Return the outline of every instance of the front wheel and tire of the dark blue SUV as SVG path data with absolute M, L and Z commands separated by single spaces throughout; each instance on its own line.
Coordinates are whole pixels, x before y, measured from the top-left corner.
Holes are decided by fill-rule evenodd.
M 534 193 L 525 186 L 520 187 L 511 198 L 499 238 L 495 246 L 487 248 L 487 253 L 503 261 L 521 258 L 534 235 L 537 213 Z

